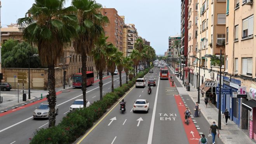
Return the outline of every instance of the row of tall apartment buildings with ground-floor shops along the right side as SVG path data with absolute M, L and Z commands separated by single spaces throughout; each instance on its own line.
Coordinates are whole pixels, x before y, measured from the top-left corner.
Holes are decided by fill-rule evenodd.
M 253 0 L 181 0 L 180 54 L 186 71 L 184 77 L 190 87 L 199 86 L 202 95 L 212 97 L 222 113 L 228 109 L 230 120 L 256 140 L 254 6 Z M 168 56 L 174 57 L 174 50 L 169 50 Z M 216 58 L 222 55 L 221 76 L 219 61 L 207 58 L 205 54 Z M 205 87 L 205 81 L 217 81 L 219 85 L 220 77 L 221 87 L 230 88 L 231 94 L 221 95 L 219 108 L 216 88 Z

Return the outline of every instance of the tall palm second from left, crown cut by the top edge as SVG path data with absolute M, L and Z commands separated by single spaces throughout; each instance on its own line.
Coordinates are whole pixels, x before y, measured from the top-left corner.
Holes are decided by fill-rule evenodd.
M 104 32 L 103 25 L 109 23 L 106 16 L 100 14 L 101 4 L 95 0 L 72 0 L 72 5 L 76 8 L 78 26 L 76 27 L 78 36 L 75 38 L 75 51 L 82 57 L 82 91 L 84 108 L 86 108 L 86 71 L 87 56 L 91 53 L 94 43 Z

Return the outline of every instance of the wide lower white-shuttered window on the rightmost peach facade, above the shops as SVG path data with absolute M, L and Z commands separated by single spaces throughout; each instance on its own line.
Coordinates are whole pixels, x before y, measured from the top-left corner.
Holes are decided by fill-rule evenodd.
M 253 58 L 242 58 L 242 74 L 252 76 L 253 75 Z

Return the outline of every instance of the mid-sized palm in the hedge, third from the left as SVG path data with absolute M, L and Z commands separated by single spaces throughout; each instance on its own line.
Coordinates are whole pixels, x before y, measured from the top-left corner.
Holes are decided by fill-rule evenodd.
M 103 87 L 103 71 L 106 68 L 106 59 L 107 53 L 110 53 L 109 51 L 112 51 L 112 43 L 108 43 L 106 42 L 106 39 L 108 37 L 104 37 L 104 35 L 102 35 L 101 38 L 99 38 L 99 40 L 95 43 L 95 47 L 94 49 L 92 49 L 92 56 L 94 59 L 94 63 L 95 63 L 95 67 L 96 69 L 99 71 L 99 97 L 100 100 L 103 99 L 103 94 L 102 94 L 102 87 Z

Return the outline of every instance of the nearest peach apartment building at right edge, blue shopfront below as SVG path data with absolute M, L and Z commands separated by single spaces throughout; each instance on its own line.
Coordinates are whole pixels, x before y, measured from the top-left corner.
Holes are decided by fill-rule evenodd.
M 230 120 L 256 141 L 256 14 L 253 0 L 227 0 L 226 54 L 223 87 L 232 95 L 223 95 L 223 105 L 231 104 Z M 244 95 L 240 95 L 241 89 Z M 241 98 L 242 97 L 242 98 Z

